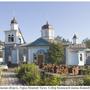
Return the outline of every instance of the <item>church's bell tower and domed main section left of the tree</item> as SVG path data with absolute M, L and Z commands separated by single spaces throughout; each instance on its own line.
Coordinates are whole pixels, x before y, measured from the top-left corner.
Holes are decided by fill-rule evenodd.
M 11 20 L 10 30 L 5 31 L 5 62 L 42 64 L 46 62 L 49 43 L 54 40 L 54 30 L 48 22 L 41 27 L 41 37 L 26 44 L 15 18 Z

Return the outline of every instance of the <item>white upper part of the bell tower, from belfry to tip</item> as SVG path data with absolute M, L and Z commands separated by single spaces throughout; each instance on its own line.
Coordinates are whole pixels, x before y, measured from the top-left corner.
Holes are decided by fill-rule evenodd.
M 20 31 L 19 25 L 14 17 L 10 23 L 10 30 L 5 31 L 5 43 L 6 44 L 23 44 L 25 40 Z

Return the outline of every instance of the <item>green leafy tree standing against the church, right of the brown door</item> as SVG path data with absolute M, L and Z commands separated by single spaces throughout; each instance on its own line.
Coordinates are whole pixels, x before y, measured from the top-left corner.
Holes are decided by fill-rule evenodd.
M 64 46 L 62 43 L 51 43 L 48 50 L 48 62 L 60 64 L 64 60 Z

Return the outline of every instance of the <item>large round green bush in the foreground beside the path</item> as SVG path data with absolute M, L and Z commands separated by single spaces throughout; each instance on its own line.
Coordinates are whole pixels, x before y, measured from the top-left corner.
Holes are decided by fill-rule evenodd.
M 18 70 L 18 78 L 26 85 L 39 85 L 40 72 L 35 64 L 23 64 Z

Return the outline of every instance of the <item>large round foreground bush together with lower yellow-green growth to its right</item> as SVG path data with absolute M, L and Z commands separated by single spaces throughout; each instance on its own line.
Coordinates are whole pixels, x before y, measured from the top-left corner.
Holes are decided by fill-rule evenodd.
M 17 77 L 26 85 L 60 85 L 61 78 L 56 75 L 46 75 L 39 72 L 35 64 L 23 64 L 16 69 Z

